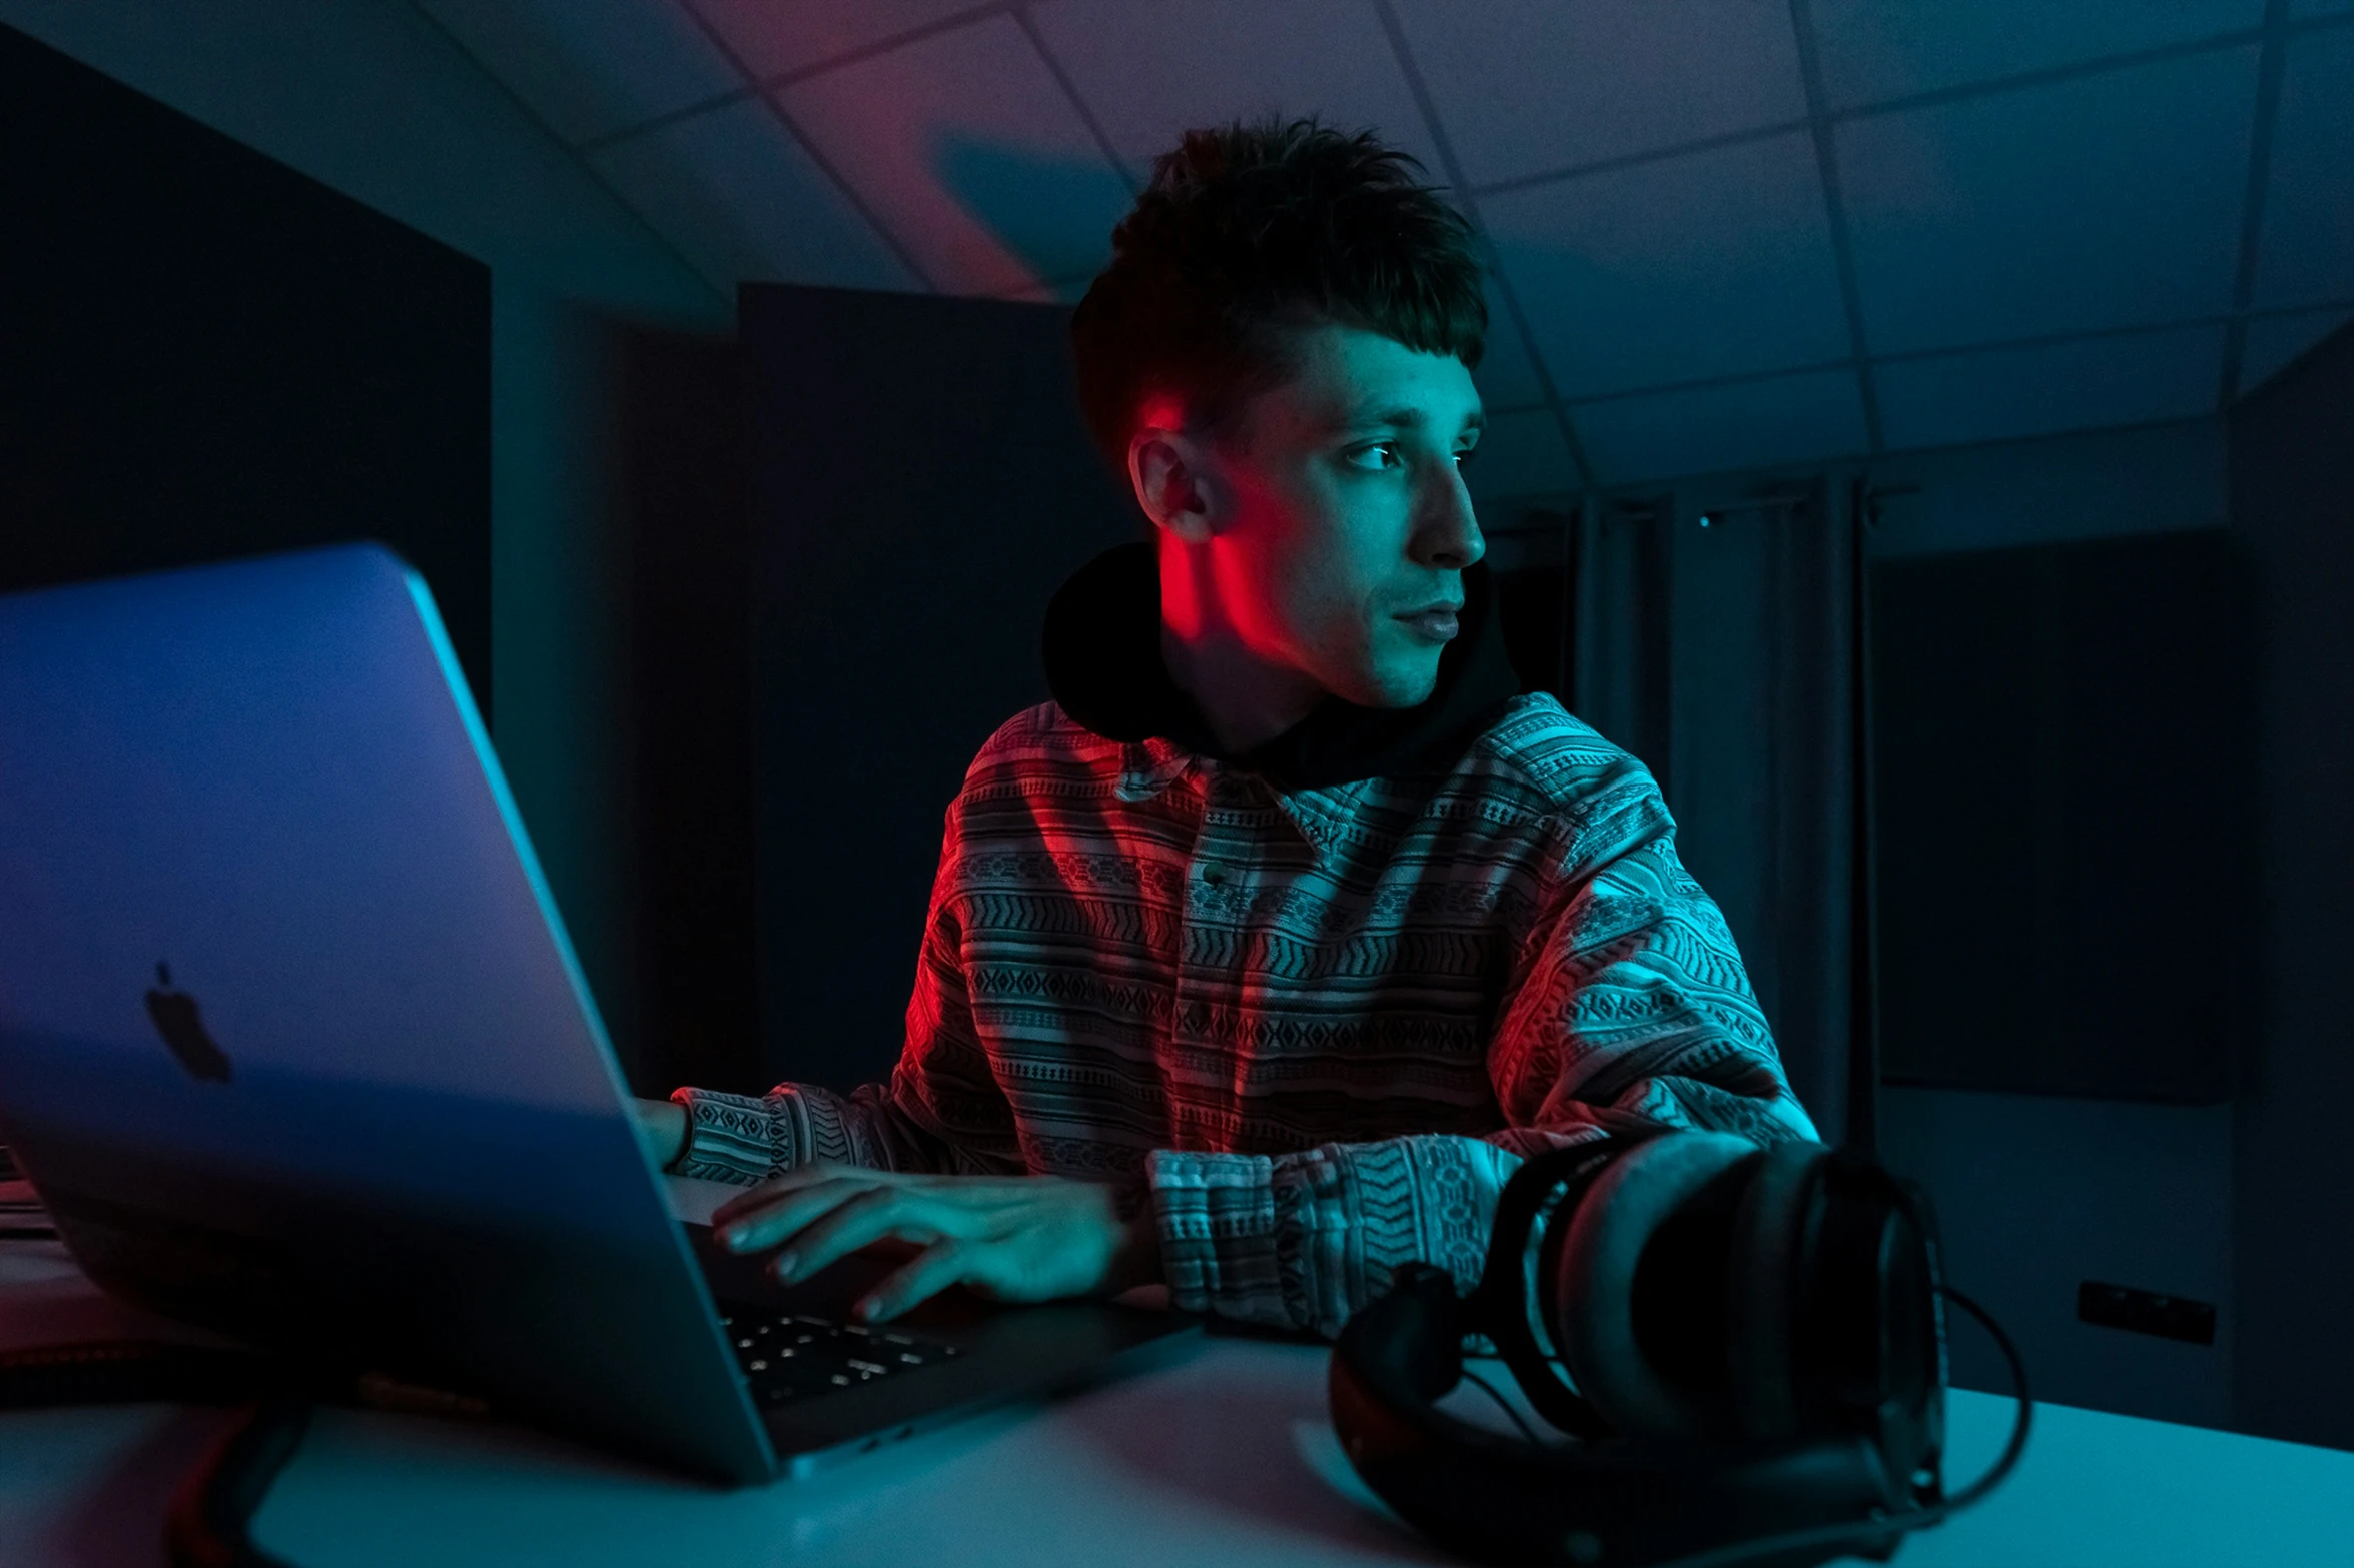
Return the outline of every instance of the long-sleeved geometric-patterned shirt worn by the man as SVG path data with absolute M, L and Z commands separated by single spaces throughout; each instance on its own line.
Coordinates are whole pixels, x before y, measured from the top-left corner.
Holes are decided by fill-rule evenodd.
M 1092 588 L 1135 625 L 1121 555 Z M 890 1081 L 680 1088 L 671 1168 L 1144 1182 L 1177 1307 L 1335 1335 L 1408 1260 L 1469 1288 L 1532 1150 L 1813 1138 L 1660 788 L 1551 696 L 1509 696 L 1464 578 L 1471 649 L 1419 724 L 1323 715 L 1243 759 L 1189 722 L 1156 642 L 1142 668 L 1109 639 L 1128 696 L 1121 658 L 1080 677 L 1066 649 L 1064 701 L 1005 724 L 949 806 Z

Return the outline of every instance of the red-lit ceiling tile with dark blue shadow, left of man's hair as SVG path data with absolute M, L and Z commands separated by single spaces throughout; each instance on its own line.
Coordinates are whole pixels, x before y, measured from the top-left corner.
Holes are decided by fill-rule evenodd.
M 951 294 L 1095 273 L 1132 202 L 1008 16 L 826 71 L 779 101 Z

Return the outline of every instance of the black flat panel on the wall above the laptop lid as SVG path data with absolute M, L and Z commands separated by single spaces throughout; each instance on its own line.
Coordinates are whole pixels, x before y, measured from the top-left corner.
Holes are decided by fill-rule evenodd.
M 487 710 L 487 268 L 0 28 L 0 588 L 381 538 Z

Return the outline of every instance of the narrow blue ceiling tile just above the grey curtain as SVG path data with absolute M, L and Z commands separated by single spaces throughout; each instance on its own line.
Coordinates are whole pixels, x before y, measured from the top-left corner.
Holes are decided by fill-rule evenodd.
M 1601 484 L 1820 463 L 1867 447 L 1864 400 L 1843 369 L 1580 402 L 1570 421 Z

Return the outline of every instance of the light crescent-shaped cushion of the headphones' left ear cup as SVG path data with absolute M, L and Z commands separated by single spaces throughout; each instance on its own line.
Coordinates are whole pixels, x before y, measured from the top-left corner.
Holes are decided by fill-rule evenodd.
M 1653 1232 L 1695 1192 L 1754 1159 L 1730 1133 L 1669 1133 L 1596 1178 L 1561 1244 L 1554 1338 L 1577 1389 L 1620 1432 L 1702 1436 L 1702 1413 L 1643 1354 L 1634 1333 L 1634 1269 Z

